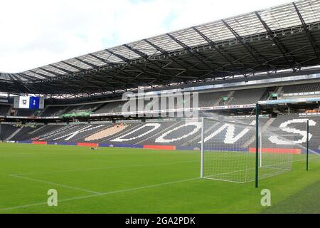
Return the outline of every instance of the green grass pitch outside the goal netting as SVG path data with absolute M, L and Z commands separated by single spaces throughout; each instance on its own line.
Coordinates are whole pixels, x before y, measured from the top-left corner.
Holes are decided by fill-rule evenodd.
M 320 213 L 320 159 L 303 156 L 255 189 L 199 179 L 199 152 L 0 143 L 0 213 Z

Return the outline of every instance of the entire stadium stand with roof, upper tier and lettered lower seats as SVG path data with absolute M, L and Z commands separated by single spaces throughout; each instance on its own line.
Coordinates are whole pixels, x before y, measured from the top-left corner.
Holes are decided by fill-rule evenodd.
M 228 116 L 254 115 L 254 104 L 261 100 L 278 100 L 285 95 L 305 98 L 306 95 L 317 94 L 318 100 L 301 99 L 302 101 L 298 100 L 299 104 L 295 100 L 285 100 L 283 103 L 280 101 L 277 108 L 267 107 L 270 103 L 265 102 L 265 106 L 269 108 L 266 112 L 269 112 L 267 114 L 272 118 L 262 118 L 260 122 L 262 137 L 265 137 L 263 146 L 282 147 L 285 143 L 282 137 L 287 134 L 294 135 L 297 144 L 305 143 L 305 121 L 308 118 L 311 123 L 310 147 L 317 150 L 320 147 L 320 134 L 314 127 L 319 124 L 320 115 L 281 115 L 292 111 L 317 114 L 320 109 L 319 55 L 316 47 L 320 37 L 320 13 L 314 9 L 320 9 L 319 1 L 297 1 L 297 4 L 289 3 L 275 7 L 272 9 L 274 16 L 270 16 L 270 9 L 255 11 L 71 58 L 23 73 L 0 73 L 1 93 L 7 93 L 9 100 L 10 93 L 26 94 L 31 91 L 34 94 L 46 94 L 50 98 L 49 105 L 41 113 L 33 110 L 16 110 L 11 113 L 17 120 L 20 116 L 32 115 L 86 115 L 78 119 L 77 115 L 69 115 L 68 119 L 61 120 L 68 123 L 50 123 L 50 118 L 41 122 L 36 116 L 34 119 L 42 124 L 49 122 L 48 125 L 36 127 L 24 125 L 28 118 L 20 118 L 23 122 L 22 128 L 1 125 L 1 139 L 8 139 L 12 135 L 11 140 L 16 141 L 199 147 L 201 130 L 200 122 L 196 119 L 153 121 L 147 119 L 147 116 L 136 118 L 132 115 L 126 118 L 132 121 L 126 122 L 124 117 L 119 115 L 124 105 L 128 104 L 127 101 L 120 100 L 120 95 L 144 87 L 148 94 L 152 92 L 161 95 L 168 94 L 169 90 L 199 91 L 198 104 L 201 112 L 219 112 Z M 268 26 L 270 28 L 267 28 Z M 276 36 L 271 37 L 270 33 Z M 304 36 L 306 34 L 309 36 Z M 309 45 L 302 46 L 301 43 Z M 282 46 L 287 47 L 285 52 L 290 53 L 289 61 Z M 78 81 L 76 86 L 75 83 L 68 83 L 73 82 L 75 77 Z M 90 83 L 92 78 L 103 83 Z M 307 83 L 309 79 L 316 83 Z M 63 98 L 70 100 L 60 102 Z M 183 99 L 181 103 L 187 104 L 188 100 Z M 191 96 L 190 102 L 193 100 Z M 144 108 L 161 108 L 161 100 L 159 107 L 151 108 L 152 102 L 144 100 Z M 169 105 L 178 108 L 178 100 L 166 103 L 166 109 Z M 0 115 L 9 115 L 10 110 L 10 105 L 0 105 Z M 108 115 L 88 116 L 90 113 Z M 1 121 L 9 121 L 2 120 L 6 118 L 8 117 L 1 118 Z M 14 118 L 9 119 L 14 121 Z M 104 122 L 105 120 L 112 123 Z M 102 123 L 98 123 L 99 121 Z M 237 121 L 240 125 L 255 124 L 252 118 L 240 118 Z M 274 135 L 263 134 L 272 129 L 277 129 Z M 233 147 L 233 143 L 230 142 L 237 140 L 238 145 L 242 147 L 254 147 L 255 134 L 251 128 L 238 128 L 233 127 L 232 123 L 216 122 L 206 129 L 206 134 L 210 135 L 210 145 Z

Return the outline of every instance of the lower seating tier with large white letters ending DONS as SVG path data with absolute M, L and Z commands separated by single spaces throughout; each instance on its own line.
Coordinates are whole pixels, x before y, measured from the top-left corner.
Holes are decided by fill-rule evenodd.
M 309 119 L 310 123 L 310 148 L 317 150 L 320 146 L 320 133 L 316 130 L 316 126 L 320 124 L 320 115 L 306 117 L 294 114 L 260 119 L 262 137 L 265 137 L 263 147 L 285 147 L 286 142 L 283 142 L 282 137 L 287 137 L 288 134 L 293 135 L 292 139 L 296 140 L 297 145 L 305 147 L 306 119 Z M 206 129 L 206 135 L 210 135 L 207 140 L 210 144 L 221 147 L 233 147 L 233 141 L 242 147 L 254 147 L 255 130 L 246 129 L 242 125 L 255 125 L 255 119 L 242 118 L 236 120 L 235 123 L 238 124 L 235 124 L 234 128 L 230 128 L 233 123 L 213 123 L 210 128 Z M 273 128 L 277 128 L 274 135 L 266 133 L 268 131 L 272 133 Z M 1 139 L 6 139 L 16 129 L 13 125 L 1 125 Z M 36 128 L 23 128 L 11 140 L 100 142 L 113 145 L 174 145 L 195 148 L 200 145 L 200 134 L 201 124 L 197 120 L 161 120 L 146 123 L 80 123 L 36 126 Z

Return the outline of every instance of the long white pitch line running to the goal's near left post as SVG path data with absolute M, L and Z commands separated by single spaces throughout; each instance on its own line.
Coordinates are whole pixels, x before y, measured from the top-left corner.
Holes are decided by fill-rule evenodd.
M 164 182 L 164 183 L 160 183 L 160 184 L 156 184 L 156 185 L 146 185 L 146 186 L 142 186 L 142 187 L 133 187 L 133 188 L 129 188 L 129 189 L 124 189 L 124 190 L 115 190 L 115 191 L 111 191 L 111 192 L 102 192 L 99 194 L 94 194 L 94 195 L 85 195 L 82 197 L 72 197 L 72 198 L 67 198 L 67 199 L 58 199 L 58 204 L 59 202 L 68 202 L 68 201 L 72 201 L 72 200 L 76 200 L 76 199 L 87 199 L 87 198 L 92 198 L 92 197 L 99 197 L 99 196 L 103 196 L 103 195 L 112 195 L 112 194 L 117 194 L 117 193 L 122 193 L 122 192 L 131 192 L 131 191 L 136 191 L 136 190 L 143 190 L 143 189 L 147 189 L 147 188 L 152 188 L 152 187 L 161 187 L 164 185 L 172 185 L 172 184 L 176 184 L 176 183 L 181 183 L 181 182 L 188 182 L 191 180 L 199 180 L 199 177 L 196 178 L 190 178 L 190 179 L 184 179 L 184 180 L 176 180 L 176 181 L 171 181 L 171 182 Z M 16 206 L 16 207 L 6 207 L 6 208 L 1 208 L 0 211 L 5 211 L 5 210 L 11 210 L 11 209 L 22 209 L 22 208 L 26 208 L 26 207 L 34 207 L 34 206 L 41 206 L 41 205 L 46 205 L 47 202 L 40 202 L 40 203 L 35 203 L 35 204 L 26 204 L 26 205 L 21 205 L 21 206 Z

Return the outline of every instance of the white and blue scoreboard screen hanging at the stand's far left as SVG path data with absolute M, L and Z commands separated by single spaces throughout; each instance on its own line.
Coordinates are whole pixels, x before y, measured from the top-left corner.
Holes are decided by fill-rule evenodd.
M 16 96 L 14 98 L 14 108 L 43 109 L 44 98 L 33 96 Z

